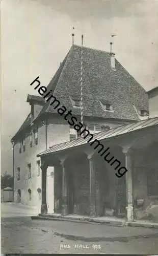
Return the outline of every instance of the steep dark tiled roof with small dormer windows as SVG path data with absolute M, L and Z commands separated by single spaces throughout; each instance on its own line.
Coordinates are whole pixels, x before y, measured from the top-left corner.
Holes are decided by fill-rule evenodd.
M 116 71 L 111 68 L 110 53 L 83 47 L 83 106 L 84 115 L 139 120 L 137 109 L 148 110 L 148 99 L 140 84 L 115 60 Z M 52 93 L 74 115 L 70 95 L 80 95 L 81 46 L 73 45 L 50 81 L 47 91 Z M 100 101 L 113 104 L 114 113 L 104 112 Z M 50 102 L 41 113 L 56 113 Z

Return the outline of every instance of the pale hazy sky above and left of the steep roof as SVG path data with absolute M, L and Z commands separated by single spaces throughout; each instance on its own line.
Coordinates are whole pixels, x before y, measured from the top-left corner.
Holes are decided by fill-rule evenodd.
M 72 31 L 72 27 L 75 29 Z M 146 90 L 158 80 L 158 0 L 2 0 L 2 173 L 13 173 L 11 138 L 30 112 L 29 86 L 47 86 L 72 44 L 113 51 Z

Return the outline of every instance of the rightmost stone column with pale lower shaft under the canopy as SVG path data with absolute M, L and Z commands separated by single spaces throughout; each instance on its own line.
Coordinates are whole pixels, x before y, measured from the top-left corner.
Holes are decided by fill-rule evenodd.
M 125 174 L 126 175 L 127 220 L 134 221 L 131 150 L 129 148 L 123 148 L 123 153 L 125 155 L 125 167 L 127 169 L 127 172 Z

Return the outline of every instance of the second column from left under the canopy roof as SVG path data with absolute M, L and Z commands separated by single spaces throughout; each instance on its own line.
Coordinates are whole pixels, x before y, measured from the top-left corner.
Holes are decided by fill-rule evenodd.
M 67 178 L 66 178 L 66 168 L 64 164 L 65 160 L 61 160 L 62 165 L 62 215 L 68 214 L 67 209 Z

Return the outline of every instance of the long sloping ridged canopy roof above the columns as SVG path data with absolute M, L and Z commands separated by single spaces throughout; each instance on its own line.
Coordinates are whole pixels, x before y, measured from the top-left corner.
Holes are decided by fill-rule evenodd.
M 150 119 L 147 119 L 144 121 L 138 121 L 137 123 L 122 125 L 122 126 L 114 128 L 114 129 L 111 129 L 109 131 L 104 131 L 104 132 L 94 134 L 93 139 L 97 139 L 100 141 L 103 139 L 117 137 L 117 136 L 120 136 L 123 134 L 137 131 L 137 130 L 142 130 L 146 127 L 151 127 L 154 125 L 158 125 L 158 117 L 150 118 Z M 158 129 L 158 127 L 157 127 L 157 129 Z M 57 144 L 57 145 L 50 147 L 48 150 L 38 154 L 37 156 L 39 157 L 39 156 L 43 156 L 43 155 L 47 155 L 47 154 L 51 154 L 51 153 L 55 153 L 55 152 L 59 152 L 59 151 L 64 151 L 64 150 L 67 150 L 68 148 L 81 146 L 81 145 L 86 144 L 89 139 L 90 139 L 89 137 L 86 139 L 78 138 L 73 141 L 68 141 L 68 142 L 64 142 L 61 144 Z

